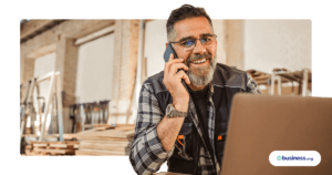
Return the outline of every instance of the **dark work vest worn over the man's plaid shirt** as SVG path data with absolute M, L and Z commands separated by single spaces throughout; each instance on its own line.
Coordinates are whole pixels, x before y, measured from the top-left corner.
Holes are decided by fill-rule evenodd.
M 165 110 L 168 104 L 173 103 L 173 97 L 166 86 L 163 83 L 164 71 L 148 78 L 152 83 L 155 95 L 159 102 L 159 107 L 165 114 Z M 215 105 L 215 152 L 217 161 L 221 166 L 224 146 L 227 140 L 227 127 L 230 112 L 230 105 L 232 96 L 238 92 L 246 92 L 247 89 L 247 74 L 245 71 L 230 68 L 228 65 L 217 63 L 212 85 L 214 94 L 212 102 Z M 196 126 L 191 121 L 190 114 L 185 119 L 184 124 L 178 135 L 185 135 L 186 154 L 193 157 L 193 161 L 187 161 L 178 155 L 178 150 L 175 148 L 172 157 L 167 161 L 167 172 L 184 173 L 184 174 L 197 174 L 198 162 L 198 140 L 201 140 L 196 131 Z M 218 141 L 218 136 L 222 140 Z

